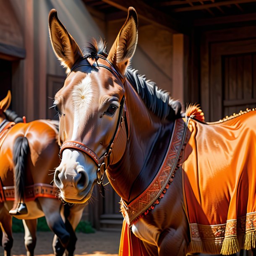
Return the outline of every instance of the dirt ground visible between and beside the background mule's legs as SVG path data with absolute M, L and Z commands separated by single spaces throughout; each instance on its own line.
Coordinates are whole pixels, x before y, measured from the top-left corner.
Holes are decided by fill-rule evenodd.
M 92 234 L 76 233 L 78 238 L 76 243 L 76 256 L 118 256 L 120 232 L 97 231 Z M 52 251 L 51 232 L 37 233 L 37 246 L 35 255 L 54 256 Z M 26 255 L 24 246 L 24 234 L 13 234 L 12 255 Z M 0 256 L 3 256 L 3 247 L 0 247 Z

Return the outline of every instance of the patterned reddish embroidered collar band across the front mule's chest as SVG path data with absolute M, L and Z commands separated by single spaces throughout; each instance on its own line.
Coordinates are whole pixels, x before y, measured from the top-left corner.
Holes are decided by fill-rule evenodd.
M 159 200 L 163 197 L 169 184 L 174 178 L 175 169 L 183 147 L 183 137 L 185 133 L 185 122 L 183 119 L 175 121 L 175 127 L 172 132 L 171 142 L 164 163 L 160 168 L 156 178 L 152 181 L 148 188 L 141 196 L 132 201 L 128 206 L 121 199 L 121 212 L 128 225 L 131 225 L 142 214 L 146 215 L 149 209 L 154 209 L 154 204 L 159 204 Z M 176 167 L 176 168 L 175 168 Z

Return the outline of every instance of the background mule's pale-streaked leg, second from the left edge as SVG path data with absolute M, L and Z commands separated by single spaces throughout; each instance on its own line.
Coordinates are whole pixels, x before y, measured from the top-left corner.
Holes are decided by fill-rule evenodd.
M 34 249 L 37 243 L 37 219 L 23 219 L 22 222 L 25 229 L 24 240 L 27 256 L 34 256 Z

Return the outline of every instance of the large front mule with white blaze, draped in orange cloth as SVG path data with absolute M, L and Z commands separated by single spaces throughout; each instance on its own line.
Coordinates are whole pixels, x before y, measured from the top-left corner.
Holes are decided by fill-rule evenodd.
M 86 202 L 107 175 L 124 216 L 119 255 L 232 254 L 256 246 L 256 112 L 205 123 L 128 67 L 138 40 L 134 8 L 107 53 L 84 52 L 49 14 L 52 48 L 67 78 L 55 95 L 62 158 L 54 181 L 66 202 Z

